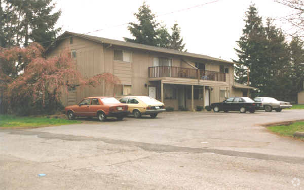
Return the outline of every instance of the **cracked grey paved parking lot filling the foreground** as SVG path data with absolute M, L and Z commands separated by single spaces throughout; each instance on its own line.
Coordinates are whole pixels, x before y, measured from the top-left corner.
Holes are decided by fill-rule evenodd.
M 295 177 L 304 189 L 304 142 L 261 126 L 303 113 L 172 112 L 0 130 L 0 189 L 292 189 Z

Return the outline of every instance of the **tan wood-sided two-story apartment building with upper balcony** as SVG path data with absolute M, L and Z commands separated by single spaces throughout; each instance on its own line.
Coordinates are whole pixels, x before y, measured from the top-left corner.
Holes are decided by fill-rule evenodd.
M 234 82 L 234 63 L 205 55 L 181 52 L 102 37 L 64 32 L 48 56 L 66 47 L 87 76 L 109 72 L 121 84 L 113 88 L 71 89 L 62 94 L 63 105 L 76 104 L 84 97 L 142 95 L 154 97 L 165 105 L 194 109 L 229 96 L 243 96 L 252 87 Z

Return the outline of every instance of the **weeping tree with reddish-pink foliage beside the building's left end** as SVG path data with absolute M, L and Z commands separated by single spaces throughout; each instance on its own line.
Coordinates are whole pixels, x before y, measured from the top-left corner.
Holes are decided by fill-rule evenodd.
M 52 113 L 60 108 L 60 95 L 67 93 L 69 87 L 120 84 L 111 73 L 84 77 L 68 56 L 68 48 L 50 58 L 44 58 L 43 52 L 36 43 L 26 48 L 0 49 L 0 90 L 3 102 L 14 113 Z

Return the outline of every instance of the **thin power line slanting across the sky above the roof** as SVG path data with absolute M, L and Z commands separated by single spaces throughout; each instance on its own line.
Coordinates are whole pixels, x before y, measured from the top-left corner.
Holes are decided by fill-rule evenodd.
M 155 16 L 155 18 L 161 17 L 161 16 L 170 15 L 170 14 L 174 14 L 174 13 L 178 13 L 178 12 L 182 12 L 182 11 L 187 11 L 187 10 L 195 9 L 195 8 L 198 8 L 198 7 L 202 7 L 204 5 L 217 3 L 219 1 L 222 1 L 222 0 L 216 0 L 216 1 L 212 1 L 212 2 L 207 2 L 207 3 L 201 4 L 201 5 L 197 5 L 197 6 L 193 6 L 193 7 L 189 7 L 189 8 L 185 8 L 185 9 L 181 9 L 181 10 L 178 10 L 178 11 L 173 11 L 173 12 L 165 13 L 165 14 L 162 14 L 162 15 L 157 15 L 157 16 Z M 142 20 L 139 20 L 139 21 L 143 21 L 143 20 L 148 20 L 148 19 L 142 19 Z M 119 27 L 119 26 L 124 26 L 124 25 L 127 25 L 127 24 L 129 24 L 129 22 L 128 23 L 124 23 L 124 24 L 119 24 L 119 25 L 111 26 L 111 27 L 107 27 L 107 28 L 101 28 L 101 29 L 90 31 L 90 32 L 86 32 L 86 33 L 74 34 L 74 35 L 70 35 L 68 37 L 61 37 L 60 40 L 67 39 L 67 38 L 73 37 L 73 36 L 79 36 L 79 35 L 84 35 L 84 34 L 89 34 L 89 33 L 95 33 L 95 32 L 101 31 L 101 30 L 106 30 L 106 29 L 109 29 L 109 28 L 115 28 L 115 27 Z M 37 42 L 37 43 L 39 43 L 39 44 L 45 44 L 45 43 L 49 43 L 49 42 L 55 42 L 57 40 L 58 39 L 51 40 L 51 41 L 45 41 L 45 42 Z

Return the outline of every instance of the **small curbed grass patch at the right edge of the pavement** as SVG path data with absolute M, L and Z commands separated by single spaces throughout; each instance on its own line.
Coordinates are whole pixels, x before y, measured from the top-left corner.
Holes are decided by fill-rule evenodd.
M 304 122 L 294 122 L 291 125 L 271 126 L 268 127 L 268 129 L 277 134 L 292 137 L 296 131 L 304 132 Z

